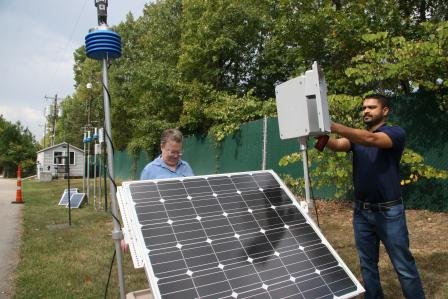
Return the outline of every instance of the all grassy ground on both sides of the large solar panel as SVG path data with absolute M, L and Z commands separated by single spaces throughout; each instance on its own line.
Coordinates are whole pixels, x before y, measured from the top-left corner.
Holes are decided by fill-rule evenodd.
M 81 180 L 71 183 L 72 188 L 82 189 Z M 72 225 L 68 226 L 68 209 L 58 206 L 66 184 L 65 180 L 23 182 L 23 235 L 14 298 L 104 297 L 114 251 L 110 208 L 109 212 L 95 211 L 89 202 L 72 209 Z M 318 207 L 324 235 L 360 279 L 349 204 L 319 202 Z M 448 298 L 447 214 L 411 210 L 407 219 L 427 298 Z M 380 269 L 386 298 L 402 298 L 395 271 L 382 251 Z M 144 271 L 133 268 L 129 254 L 123 255 L 123 268 L 127 292 L 148 287 Z M 108 298 L 119 298 L 115 266 Z

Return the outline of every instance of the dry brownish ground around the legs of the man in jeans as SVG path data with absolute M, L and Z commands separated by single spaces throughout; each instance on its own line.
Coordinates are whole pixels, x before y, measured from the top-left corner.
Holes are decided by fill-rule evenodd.
M 347 201 L 316 201 L 322 232 L 361 281 Z M 315 212 L 310 212 L 316 220 Z M 448 213 L 406 210 L 411 250 L 427 298 L 448 298 Z M 396 273 L 381 246 L 380 274 L 386 298 L 403 298 Z M 362 281 L 361 281 L 362 282 Z

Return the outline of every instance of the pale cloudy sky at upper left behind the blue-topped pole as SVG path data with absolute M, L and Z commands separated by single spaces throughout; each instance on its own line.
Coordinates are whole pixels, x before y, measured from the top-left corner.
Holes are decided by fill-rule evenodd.
M 109 0 L 109 26 L 149 0 Z M 0 114 L 39 141 L 45 109 L 74 92 L 73 52 L 98 25 L 94 0 L 0 0 Z

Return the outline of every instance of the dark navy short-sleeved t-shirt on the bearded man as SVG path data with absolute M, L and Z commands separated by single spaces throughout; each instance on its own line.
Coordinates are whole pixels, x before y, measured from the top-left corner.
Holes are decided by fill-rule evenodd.
M 374 203 L 397 200 L 401 197 L 399 165 L 406 133 L 386 124 L 374 132 L 387 134 L 393 145 L 380 149 L 352 143 L 355 199 Z

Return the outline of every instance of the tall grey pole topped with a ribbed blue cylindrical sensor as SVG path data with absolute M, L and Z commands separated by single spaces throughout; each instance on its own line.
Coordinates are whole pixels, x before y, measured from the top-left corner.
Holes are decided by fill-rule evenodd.
M 114 157 L 112 147 L 112 129 L 110 120 L 110 93 L 108 87 L 107 68 L 108 64 L 121 56 L 121 38 L 107 25 L 107 0 L 95 0 L 97 8 L 98 26 L 91 28 L 85 37 L 87 57 L 102 62 L 102 85 L 104 98 L 104 135 L 107 149 L 107 170 L 109 176 L 109 191 L 111 194 L 111 209 L 113 215 L 112 239 L 115 245 L 117 257 L 118 283 L 120 287 L 120 298 L 125 298 L 125 284 L 123 276 L 122 254 L 120 241 L 123 239 L 120 223 L 118 222 L 118 203 L 116 197 L 116 185 L 114 181 Z

